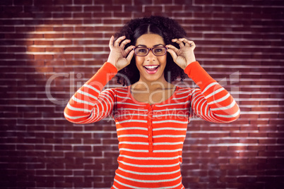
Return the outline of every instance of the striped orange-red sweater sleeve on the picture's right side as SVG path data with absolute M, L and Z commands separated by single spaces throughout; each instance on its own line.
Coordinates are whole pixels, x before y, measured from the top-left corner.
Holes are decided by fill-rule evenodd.
M 239 117 L 239 106 L 232 95 L 213 80 L 197 61 L 189 64 L 184 73 L 200 87 L 191 96 L 191 110 L 197 116 L 215 123 L 228 123 Z

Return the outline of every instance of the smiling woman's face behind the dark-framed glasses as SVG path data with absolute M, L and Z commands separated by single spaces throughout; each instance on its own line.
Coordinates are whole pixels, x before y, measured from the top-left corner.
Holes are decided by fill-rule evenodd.
M 136 40 L 136 47 L 163 47 L 165 42 L 160 35 L 144 34 Z M 155 56 L 153 51 L 149 51 L 146 56 L 135 55 L 136 66 L 140 72 L 141 81 L 165 80 L 164 70 L 167 63 L 167 54 Z

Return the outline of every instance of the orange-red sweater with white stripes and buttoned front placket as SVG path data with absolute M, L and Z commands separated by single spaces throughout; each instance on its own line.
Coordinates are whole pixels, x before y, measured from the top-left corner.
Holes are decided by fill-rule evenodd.
M 71 97 L 64 116 L 73 123 L 93 123 L 113 116 L 119 140 L 119 167 L 112 188 L 184 188 L 180 164 L 191 115 L 215 123 L 235 121 L 239 107 L 198 62 L 184 73 L 199 88 L 178 87 L 165 102 L 147 104 L 130 86 L 103 90 L 117 73 L 111 63 Z

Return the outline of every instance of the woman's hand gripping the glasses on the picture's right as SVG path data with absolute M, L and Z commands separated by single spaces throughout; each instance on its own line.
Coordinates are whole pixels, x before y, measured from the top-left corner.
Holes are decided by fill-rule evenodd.
M 187 68 L 187 66 L 196 61 L 194 56 L 195 44 L 193 41 L 189 41 L 185 38 L 172 39 L 172 42 L 179 44 L 179 49 L 174 47 L 172 44 L 167 44 L 167 51 L 172 55 L 172 59 L 175 63 L 182 69 Z

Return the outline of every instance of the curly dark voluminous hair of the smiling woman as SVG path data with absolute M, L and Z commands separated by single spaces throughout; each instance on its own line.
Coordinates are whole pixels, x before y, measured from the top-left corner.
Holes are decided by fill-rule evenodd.
M 135 45 L 136 40 L 141 35 L 147 33 L 154 33 L 160 35 L 164 39 L 165 44 L 172 44 L 179 49 L 177 43 L 172 42 L 174 38 L 186 37 L 187 33 L 177 23 L 176 20 L 166 18 L 163 16 L 150 16 L 145 18 L 136 18 L 126 23 L 119 32 L 114 35 L 117 39 L 121 36 L 126 36 L 126 39 L 130 39 L 131 42 L 126 44 L 126 49 L 130 45 Z M 185 73 L 174 63 L 172 56 L 167 52 L 167 64 L 164 71 L 165 80 L 171 83 L 177 78 L 181 78 L 181 81 L 185 78 Z M 124 85 L 132 85 L 136 83 L 140 78 L 138 68 L 136 67 L 135 58 L 131 59 L 131 63 L 120 70 L 117 73 L 117 83 Z

